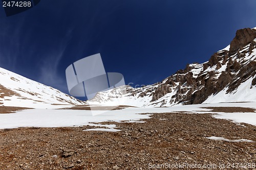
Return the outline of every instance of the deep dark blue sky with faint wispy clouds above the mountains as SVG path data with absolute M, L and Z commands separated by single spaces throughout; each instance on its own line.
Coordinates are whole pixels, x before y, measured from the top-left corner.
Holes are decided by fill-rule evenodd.
M 66 68 L 100 53 L 106 72 L 147 85 L 207 61 L 248 27 L 255 0 L 42 0 L 10 17 L 0 7 L 0 67 L 68 93 Z

